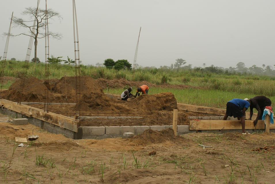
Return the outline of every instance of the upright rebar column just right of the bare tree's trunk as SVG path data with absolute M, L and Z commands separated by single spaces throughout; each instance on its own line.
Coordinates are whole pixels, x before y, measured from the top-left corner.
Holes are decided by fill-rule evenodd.
M 44 112 L 48 112 L 49 104 L 49 61 L 48 58 L 50 47 L 49 47 L 49 24 L 48 24 L 48 10 L 47 10 L 47 0 L 46 0 L 46 12 L 45 12 L 45 102 L 44 102 Z

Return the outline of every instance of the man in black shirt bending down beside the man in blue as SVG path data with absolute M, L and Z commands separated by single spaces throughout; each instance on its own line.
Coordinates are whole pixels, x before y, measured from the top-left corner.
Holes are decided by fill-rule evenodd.
M 250 103 L 250 117 L 249 120 L 251 120 L 253 115 L 253 108 L 257 109 L 258 115 L 257 118 L 253 121 L 254 126 L 257 125 L 258 120 L 262 119 L 263 116 L 263 110 L 265 109 L 265 106 L 271 106 L 271 100 L 265 96 L 256 96 L 251 99 L 249 99 Z

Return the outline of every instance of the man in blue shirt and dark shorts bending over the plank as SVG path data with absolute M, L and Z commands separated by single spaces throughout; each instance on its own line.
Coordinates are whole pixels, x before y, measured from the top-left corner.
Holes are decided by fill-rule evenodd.
M 245 120 L 244 120 L 244 114 L 245 111 L 249 108 L 250 101 L 249 99 L 239 99 L 234 98 L 227 102 L 226 104 L 226 113 L 223 117 L 223 120 L 226 120 L 228 116 L 233 116 L 234 118 L 238 118 L 238 120 L 241 120 L 242 124 L 242 133 L 245 134 Z

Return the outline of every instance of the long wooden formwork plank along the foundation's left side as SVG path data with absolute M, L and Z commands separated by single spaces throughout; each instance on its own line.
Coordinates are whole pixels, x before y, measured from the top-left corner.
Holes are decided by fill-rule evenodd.
M 73 132 L 78 132 L 78 122 L 75 121 L 74 118 L 62 116 L 62 115 L 55 114 L 52 112 L 44 112 L 41 109 L 23 105 L 23 104 L 19 105 L 16 102 L 12 102 L 12 101 L 5 100 L 5 99 L 0 99 L 0 105 L 4 108 L 7 108 L 8 110 L 12 110 L 15 112 L 19 112 L 21 114 L 25 114 L 27 117 L 33 117 L 36 119 L 40 119 L 42 121 L 52 123 L 52 124 L 59 126 L 61 128 L 65 128 L 65 129 L 71 130 Z

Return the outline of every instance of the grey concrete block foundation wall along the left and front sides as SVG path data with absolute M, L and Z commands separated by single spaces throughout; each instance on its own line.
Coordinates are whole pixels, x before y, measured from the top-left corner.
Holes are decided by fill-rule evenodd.
M 10 115 L 14 118 L 27 118 L 28 123 L 33 124 L 37 127 L 41 127 L 45 130 L 47 130 L 50 133 L 54 134 L 63 134 L 64 136 L 72 139 L 103 139 L 103 138 L 115 138 L 115 137 L 122 137 L 123 133 L 125 132 L 132 132 L 135 135 L 141 134 L 146 129 L 152 129 L 152 130 L 163 130 L 172 128 L 172 125 L 152 125 L 152 126 L 100 126 L 100 127 L 85 127 L 80 126 L 78 128 L 78 132 L 73 132 L 69 129 L 61 128 L 57 125 L 54 125 L 52 123 L 48 123 L 46 121 L 42 121 L 33 117 L 24 117 L 23 114 L 19 112 L 14 112 L 12 110 L 7 110 L 3 108 L 4 110 L 0 110 L 2 114 Z M 226 133 L 226 132 L 241 132 L 242 130 L 198 130 L 198 132 L 213 132 L 213 133 Z M 259 130 L 252 130 L 252 129 L 246 129 L 249 133 L 253 132 L 264 132 L 264 129 Z M 187 134 L 196 132 L 196 130 L 189 130 L 189 125 L 178 125 L 177 126 L 177 134 Z M 275 129 L 270 129 L 270 132 L 275 132 Z

